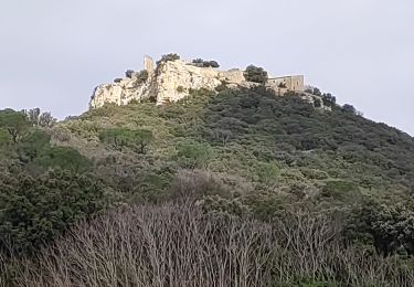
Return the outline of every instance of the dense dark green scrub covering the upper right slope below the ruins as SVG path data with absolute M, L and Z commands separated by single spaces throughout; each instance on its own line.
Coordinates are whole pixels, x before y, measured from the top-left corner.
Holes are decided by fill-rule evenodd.
M 413 138 L 339 107 L 319 113 L 295 95 L 223 91 L 201 117 L 205 140 L 248 147 L 259 159 L 319 169 L 370 189 L 383 190 L 385 180 L 408 190 L 414 181 Z

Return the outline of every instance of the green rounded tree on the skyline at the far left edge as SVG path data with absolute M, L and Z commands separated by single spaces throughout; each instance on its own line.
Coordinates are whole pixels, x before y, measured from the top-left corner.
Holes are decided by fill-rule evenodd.
M 30 126 L 31 124 L 24 113 L 12 109 L 0 110 L 0 128 L 9 132 L 14 145 L 29 130 Z

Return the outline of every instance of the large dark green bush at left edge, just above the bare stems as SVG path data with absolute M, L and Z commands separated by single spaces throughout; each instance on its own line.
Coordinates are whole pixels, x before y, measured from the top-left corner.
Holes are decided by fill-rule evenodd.
M 91 176 L 53 171 L 0 179 L 0 247 L 35 252 L 59 233 L 105 208 L 103 185 Z

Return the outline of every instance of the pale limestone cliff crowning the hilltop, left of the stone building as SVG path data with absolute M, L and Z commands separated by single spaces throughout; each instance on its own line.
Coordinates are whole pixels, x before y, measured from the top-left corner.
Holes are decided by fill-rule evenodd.
M 145 60 L 148 64 L 148 57 Z M 248 86 L 243 71 L 220 71 L 213 67 L 199 67 L 182 60 L 161 63 L 157 70 L 146 70 L 148 78 L 142 81 L 139 73 L 117 79 L 117 83 L 104 84 L 94 91 L 89 106 L 102 107 L 105 103 L 127 105 L 132 99 L 153 97 L 158 105 L 177 102 L 189 96 L 191 89 L 206 88 L 214 91 L 223 83 Z

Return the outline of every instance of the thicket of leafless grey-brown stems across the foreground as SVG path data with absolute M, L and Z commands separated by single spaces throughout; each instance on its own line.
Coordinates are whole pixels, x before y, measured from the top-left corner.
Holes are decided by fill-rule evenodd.
M 20 261 L 15 285 L 254 287 L 307 279 L 414 286 L 413 270 L 358 254 L 339 232 L 307 212 L 268 225 L 192 204 L 134 206 L 83 223 L 38 258 Z

